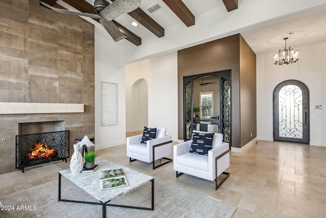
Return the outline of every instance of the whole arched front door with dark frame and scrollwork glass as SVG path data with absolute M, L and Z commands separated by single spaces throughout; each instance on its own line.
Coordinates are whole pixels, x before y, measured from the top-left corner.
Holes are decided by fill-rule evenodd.
M 274 140 L 309 143 L 309 90 L 297 80 L 287 80 L 273 93 Z

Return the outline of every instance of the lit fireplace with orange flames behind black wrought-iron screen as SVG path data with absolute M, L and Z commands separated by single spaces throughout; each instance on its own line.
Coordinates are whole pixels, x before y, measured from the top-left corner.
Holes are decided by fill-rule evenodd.
M 69 130 L 16 135 L 16 169 L 69 157 Z

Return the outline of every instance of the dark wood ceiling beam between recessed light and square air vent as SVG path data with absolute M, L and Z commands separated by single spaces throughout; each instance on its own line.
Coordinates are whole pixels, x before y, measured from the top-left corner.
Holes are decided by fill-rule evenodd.
M 111 2 L 114 1 L 115 0 L 111 0 Z M 128 14 L 157 37 L 160 38 L 164 36 L 164 28 L 162 28 L 155 20 L 148 16 L 148 14 L 146 14 L 142 9 L 137 8 L 136 10 L 131 11 Z

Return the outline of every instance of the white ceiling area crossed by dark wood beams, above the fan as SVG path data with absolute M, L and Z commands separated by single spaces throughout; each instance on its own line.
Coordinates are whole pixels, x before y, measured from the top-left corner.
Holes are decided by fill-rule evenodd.
M 68 4 L 80 12 L 95 14 L 93 8 L 94 0 L 42 0 L 42 2 L 45 2 L 46 4 L 53 7 L 56 7 L 57 2 L 60 1 Z M 114 1 L 115 0 L 111 0 L 108 2 L 112 3 Z M 193 0 L 142 0 L 141 7 L 143 9 L 137 8 L 136 10 L 129 12 L 128 16 L 146 28 L 148 30 L 146 31 L 146 34 L 149 32 L 150 34 L 160 38 L 165 35 L 165 28 L 170 27 L 174 22 L 181 20 L 186 27 L 196 25 L 196 15 L 205 12 L 205 10 L 210 10 L 212 7 L 215 8 L 221 4 L 224 4 L 226 10 L 229 12 L 238 8 L 238 0 L 213 0 L 210 1 L 210 3 L 201 3 L 204 4 L 204 6 L 199 6 L 200 4 L 198 4 L 198 2 L 200 3 L 200 1 L 195 2 L 197 2 L 197 4 L 194 4 Z M 165 10 L 165 14 L 167 16 L 155 16 L 155 12 L 158 10 Z M 128 20 L 128 18 L 125 17 L 124 20 L 126 19 Z M 99 20 L 96 21 L 99 22 Z M 144 33 L 137 33 L 137 31 L 133 31 L 133 28 L 126 27 L 123 23 L 120 23 L 119 18 L 114 20 L 114 23 L 118 29 L 127 36 L 126 40 L 135 45 L 142 44 L 141 35 L 144 35 Z

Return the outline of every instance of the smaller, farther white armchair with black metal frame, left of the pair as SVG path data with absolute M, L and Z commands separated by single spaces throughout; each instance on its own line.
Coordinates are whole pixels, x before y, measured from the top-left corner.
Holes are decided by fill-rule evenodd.
M 153 163 L 153 169 L 172 162 L 173 159 L 166 156 L 172 154 L 172 136 L 166 135 L 166 128 L 157 128 L 156 137 L 141 143 L 143 135 L 127 137 L 126 150 L 129 162 L 141 160 Z M 155 166 L 155 160 L 168 160 Z

